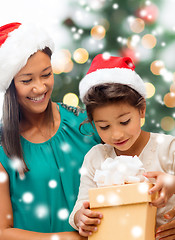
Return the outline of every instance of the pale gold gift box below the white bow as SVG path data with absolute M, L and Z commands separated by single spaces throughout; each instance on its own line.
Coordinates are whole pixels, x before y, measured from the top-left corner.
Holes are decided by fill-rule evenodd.
M 89 189 L 90 208 L 103 214 L 98 231 L 89 240 L 154 240 L 157 208 L 148 190 L 151 183 L 133 183 Z

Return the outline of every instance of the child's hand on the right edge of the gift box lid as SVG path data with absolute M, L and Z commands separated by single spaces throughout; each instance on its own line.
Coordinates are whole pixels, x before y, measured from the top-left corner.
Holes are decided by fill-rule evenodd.
M 168 199 L 175 193 L 175 176 L 164 172 L 147 172 L 143 174 L 147 178 L 155 178 L 155 186 L 149 190 L 150 194 L 159 193 L 159 197 L 152 202 L 158 208 L 164 207 Z

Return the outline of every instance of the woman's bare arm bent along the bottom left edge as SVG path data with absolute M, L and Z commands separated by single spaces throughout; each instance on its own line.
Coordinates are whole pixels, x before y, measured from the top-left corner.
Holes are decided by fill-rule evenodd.
M 38 233 L 32 231 L 13 228 L 13 211 L 10 199 L 9 177 L 4 167 L 0 163 L 0 173 L 2 180 L 0 182 L 0 240 L 85 240 L 77 232 L 60 233 Z M 55 236 L 55 237 L 54 237 Z

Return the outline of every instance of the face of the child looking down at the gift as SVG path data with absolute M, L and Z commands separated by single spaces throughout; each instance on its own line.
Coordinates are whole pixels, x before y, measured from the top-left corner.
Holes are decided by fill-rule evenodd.
M 139 111 L 127 103 L 114 103 L 96 108 L 93 120 L 103 142 L 127 155 L 140 136 L 145 110 Z

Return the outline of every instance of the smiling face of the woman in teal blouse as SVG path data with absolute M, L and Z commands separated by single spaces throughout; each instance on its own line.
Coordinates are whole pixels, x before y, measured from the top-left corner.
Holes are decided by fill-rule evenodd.
M 50 57 L 36 52 L 14 77 L 14 84 L 23 113 L 44 112 L 54 85 Z

